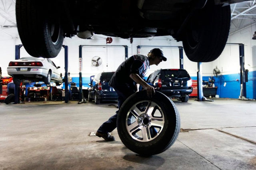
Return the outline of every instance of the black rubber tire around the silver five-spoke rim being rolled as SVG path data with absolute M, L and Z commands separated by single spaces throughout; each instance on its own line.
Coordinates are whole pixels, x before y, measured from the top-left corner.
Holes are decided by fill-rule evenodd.
M 167 96 L 165 96 L 166 98 L 163 98 L 163 96 L 165 95 L 160 92 L 156 92 L 154 98 L 149 99 L 146 96 L 146 91 L 137 92 L 130 96 L 120 108 L 117 118 L 118 134 L 124 145 L 133 152 L 142 155 L 152 155 L 163 152 L 170 147 L 170 142 L 172 142 L 172 138 L 176 131 L 177 111 L 175 110 L 175 107 L 172 107 L 174 105 L 172 101 L 168 100 L 169 98 Z M 134 104 L 142 100 L 151 100 L 152 102 L 155 102 L 161 107 L 164 114 L 165 123 L 161 133 L 158 137 L 149 142 L 139 142 L 132 139 L 126 129 L 126 115 L 128 111 Z

